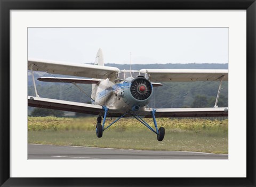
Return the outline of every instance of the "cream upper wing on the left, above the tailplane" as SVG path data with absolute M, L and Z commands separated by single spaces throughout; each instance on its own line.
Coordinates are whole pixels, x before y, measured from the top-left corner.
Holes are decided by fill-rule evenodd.
M 98 79 L 107 79 L 119 71 L 117 67 L 29 59 L 28 70 L 31 67 L 35 71 Z

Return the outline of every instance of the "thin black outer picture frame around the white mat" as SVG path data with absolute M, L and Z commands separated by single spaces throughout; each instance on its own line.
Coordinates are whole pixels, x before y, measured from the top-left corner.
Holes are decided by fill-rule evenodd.
M 1 186 L 255 186 L 255 0 L 0 0 Z M 10 10 L 246 10 L 246 178 L 10 178 Z M 242 124 L 241 124 L 242 125 Z M 86 168 L 85 168 L 86 169 Z M 170 168 L 171 169 L 171 168 Z M 157 172 L 157 171 L 156 171 Z

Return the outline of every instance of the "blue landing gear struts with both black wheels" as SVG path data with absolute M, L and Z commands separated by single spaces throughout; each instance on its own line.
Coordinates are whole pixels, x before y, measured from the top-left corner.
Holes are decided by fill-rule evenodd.
M 98 116 L 97 118 L 97 125 L 96 125 L 96 134 L 98 138 L 102 137 L 102 133 L 103 131 L 105 131 L 106 129 L 108 129 L 111 125 L 113 125 L 114 123 L 116 123 L 118 120 L 120 120 L 122 117 L 124 117 L 127 113 L 124 113 L 121 117 L 118 117 L 114 122 L 110 123 L 106 128 L 104 128 L 105 126 L 105 122 L 106 122 L 106 117 L 107 117 L 107 113 L 109 108 L 107 108 L 106 106 L 103 106 L 103 109 L 105 111 L 104 113 L 104 117 L 103 117 L 103 123 L 101 125 L 101 116 Z M 138 120 L 140 123 L 142 123 L 143 125 L 145 125 L 149 130 L 153 131 L 154 133 L 157 134 L 157 140 L 158 141 L 162 141 L 164 139 L 164 134 L 165 134 L 165 129 L 163 127 L 161 128 L 157 128 L 157 123 L 156 123 L 156 117 L 155 117 L 155 113 L 156 113 L 156 109 L 153 109 L 153 111 L 151 111 L 152 117 L 153 117 L 153 121 L 155 124 L 155 129 L 151 128 L 151 126 L 145 121 L 143 120 L 139 115 L 135 114 L 135 113 L 129 113 L 131 114 L 136 120 Z

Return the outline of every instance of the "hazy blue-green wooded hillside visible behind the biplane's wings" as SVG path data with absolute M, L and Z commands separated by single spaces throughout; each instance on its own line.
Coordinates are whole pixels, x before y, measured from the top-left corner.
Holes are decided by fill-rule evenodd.
M 105 64 L 119 69 L 130 69 L 129 64 Z M 133 70 L 140 69 L 228 69 L 228 64 L 132 64 Z M 71 77 L 66 75 L 51 75 L 45 72 L 35 72 L 38 77 Z M 37 81 L 37 91 L 41 97 L 90 103 L 90 98 L 77 89 L 73 84 L 48 83 Z M 83 84 L 81 87 L 87 95 L 91 95 L 91 85 Z M 213 107 L 219 82 L 164 82 L 162 87 L 154 89 L 154 95 L 149 106 L 154 108 L 179 107 Z M 228 82 L 222 83 L 219 98 L 219 107 L 228 107 Z M 33 80 L 28 71 L 28 95 L 34 96 Z

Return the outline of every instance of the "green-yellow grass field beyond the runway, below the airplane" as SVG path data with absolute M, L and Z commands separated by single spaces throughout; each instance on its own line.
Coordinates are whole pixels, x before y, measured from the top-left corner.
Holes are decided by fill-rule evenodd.
M 152 119 L 147 121 L 154 126 Z M 104 131 L 102 138 L 97 138 L 95 117 L 28 117 L 28 143 L 228 153 L 228 120 L 157 118 L 157 122 L 158 127 L 165 128 L 162 142 L 132 118 L 122 119 Z

